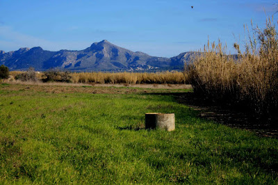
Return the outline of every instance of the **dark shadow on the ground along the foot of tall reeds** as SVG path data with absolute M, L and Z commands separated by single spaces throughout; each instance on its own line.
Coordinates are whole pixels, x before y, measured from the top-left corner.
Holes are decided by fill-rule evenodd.
M 186 104 L 199 117 L 213 120 L 228 127 L 236 127 L 256 132 L 259 136 L 278 138 L 278 124 L 273 120 L 258 119 L 246 109 L 233 107 L 230 104 L 216 104 L 194 93 L 149 93 L 149 95 L 172 95 L 179 104 Z

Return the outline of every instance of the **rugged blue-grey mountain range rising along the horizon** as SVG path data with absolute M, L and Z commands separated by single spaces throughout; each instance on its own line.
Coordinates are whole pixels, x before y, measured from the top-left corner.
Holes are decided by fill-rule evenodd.
M 0 65 L 6 65 L 10 70 L 26 70 L 28 67 L 34 67 L 35 70 L 59 68 L 73 71 L 181 70 L 184 63 L 195 54 L 185 52 L 172 58 L 149 56 L 102 40 L 81 51 L 46 51 L 41 47 L 21 48 L 7 53 L 0 50 Z

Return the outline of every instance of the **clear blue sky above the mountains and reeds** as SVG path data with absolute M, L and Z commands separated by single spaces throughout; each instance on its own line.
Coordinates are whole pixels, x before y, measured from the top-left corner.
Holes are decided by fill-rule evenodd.
M 202 49 L 209 36 L 226 42 L 233 53 L 236 39 L 245 39 L 243 25 L 252 19 L 263 27 L 266 16 L 278 10 L 276 2 L 0 0 L 0 50 L 80 50 L 105 39 L 131 51 L 171 57 Z

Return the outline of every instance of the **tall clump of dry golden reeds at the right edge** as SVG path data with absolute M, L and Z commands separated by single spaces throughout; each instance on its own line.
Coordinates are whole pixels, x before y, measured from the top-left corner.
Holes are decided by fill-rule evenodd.
M 250 107 L 257 115 L 277 115 L 278 38 L 271 19 L 265 29 L 253 28 L 245 51 L 234 44 L 238 56 L 226 54 L 221 42 L 204 47 L 196 60 L 186 66 L 195 93 L 214 101 Z

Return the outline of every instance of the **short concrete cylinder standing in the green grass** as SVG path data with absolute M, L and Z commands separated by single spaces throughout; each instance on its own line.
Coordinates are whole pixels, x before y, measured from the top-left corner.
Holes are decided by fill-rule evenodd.
M 167 131 L 174 130 L 174 113 L 146 113 L 145 114 L 146 129 L 165 129 Z

